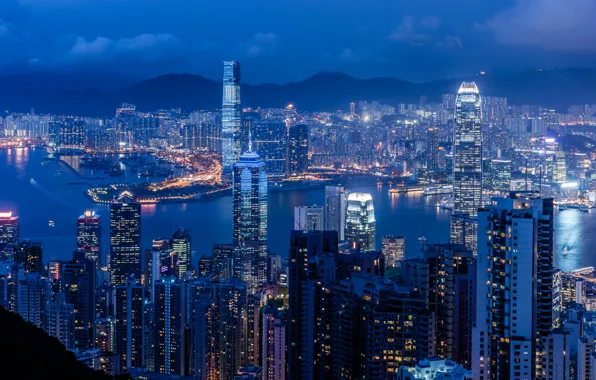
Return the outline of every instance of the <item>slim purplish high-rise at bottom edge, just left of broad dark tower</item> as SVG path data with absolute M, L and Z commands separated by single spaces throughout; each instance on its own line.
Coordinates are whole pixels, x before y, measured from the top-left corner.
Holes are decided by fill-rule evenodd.
M 282 311 L 267 306 L 263 309 L 263 380 L 286 379 L 286 322 Z

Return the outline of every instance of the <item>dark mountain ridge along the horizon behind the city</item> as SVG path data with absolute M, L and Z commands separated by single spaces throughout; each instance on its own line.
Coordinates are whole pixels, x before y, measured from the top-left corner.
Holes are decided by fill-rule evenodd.
M 287 84 L 243 84 L 244 107 L 300 110 L 347 110 L 356 100 L 418 103 L 421 96 L 439 101 L 455 94 L 462 81 L 475 81 L 483 95 L 503 96 L 510 104 L 534 104 L 565 111 L 573 104 L 596 103 L 596 69 L 568 68 L 524 71 L 509 76 L 470 77 L 414 83 L 396 78 L 358 79 L 339 72 L 321 72 Z M 221 82 L 192 74 L 168 74 L 137 80 L 105 73 L 30 73 L 0 77 L 0 108 L 8 112 L 81 116 L 113 115 L 123 102 L 141 111 L 221 107 Z

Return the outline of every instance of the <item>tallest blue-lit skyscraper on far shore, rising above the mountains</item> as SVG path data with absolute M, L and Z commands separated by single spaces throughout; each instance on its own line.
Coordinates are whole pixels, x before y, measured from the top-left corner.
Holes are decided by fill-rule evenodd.
M 224 62 L 223 101 L 221 111 L 222 164 L 224 174 L 230 175 L 234 163 L 240 159 L 240 62 Z

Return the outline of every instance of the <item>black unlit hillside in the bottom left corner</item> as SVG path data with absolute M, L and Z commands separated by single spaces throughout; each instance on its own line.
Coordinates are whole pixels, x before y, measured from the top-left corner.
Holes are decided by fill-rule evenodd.
M 0 306 L 0 377 L 3 379 L 125 380 L 79 362 L 58 339 Z

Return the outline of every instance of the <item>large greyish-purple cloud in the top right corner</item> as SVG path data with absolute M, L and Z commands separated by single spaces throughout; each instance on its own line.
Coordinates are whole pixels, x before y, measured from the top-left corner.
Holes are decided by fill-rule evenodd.
M 515 6 L 478 28 L 503 45 L 563 52 L 596 51 L 594 0 L 516 0 Z

